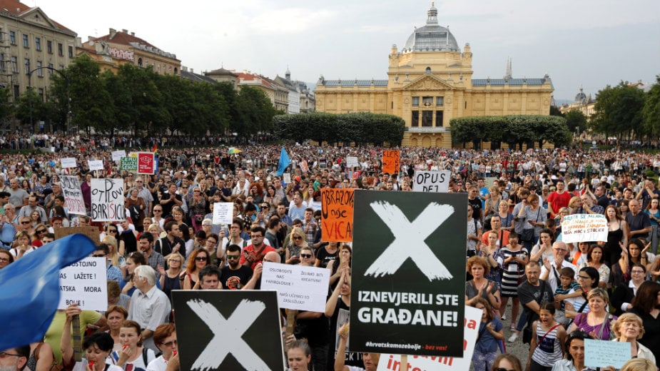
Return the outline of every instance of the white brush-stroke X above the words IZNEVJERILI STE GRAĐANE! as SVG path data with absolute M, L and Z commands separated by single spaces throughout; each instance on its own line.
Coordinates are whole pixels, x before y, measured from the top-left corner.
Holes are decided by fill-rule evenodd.
M 374 260 L 365 275 L 393 275 L 407 258 L 432 281 L 453 278 L 424 240 L 454 213 L 452 205 L 430 203 L 412 223 L 396 205 L 372 202 L 371 208 L 387 224 L 395 240 Z

